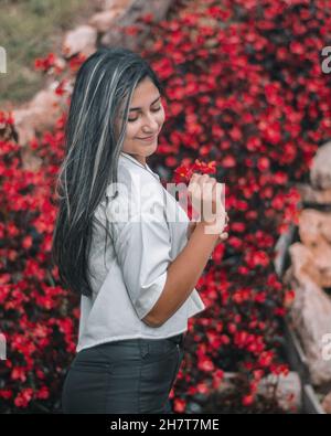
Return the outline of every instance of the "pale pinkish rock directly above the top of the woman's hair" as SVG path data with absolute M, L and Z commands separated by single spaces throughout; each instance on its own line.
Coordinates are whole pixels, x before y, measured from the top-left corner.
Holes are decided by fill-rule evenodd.
M 82 53 L 86 57 L 96 50 L 97 31 L 92 25 L 79 25 L 65 34 L 62 52 L 65 57 Z

